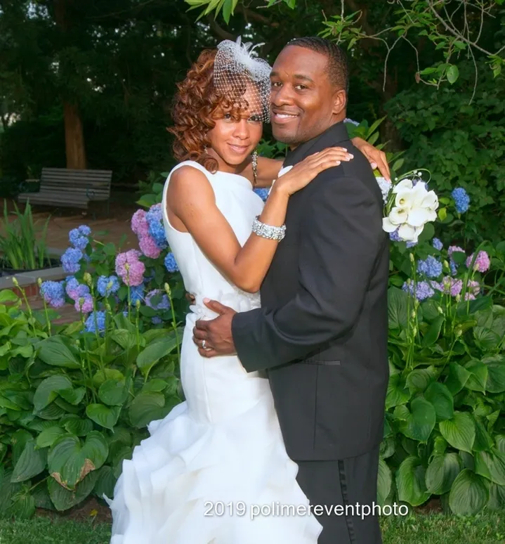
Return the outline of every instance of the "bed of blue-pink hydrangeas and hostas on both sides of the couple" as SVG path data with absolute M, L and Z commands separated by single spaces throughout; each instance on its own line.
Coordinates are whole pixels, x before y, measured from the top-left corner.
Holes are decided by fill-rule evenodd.
M 138 249 L 104 244 L 87 226 L 69 234 L 68 276 L 41 282 L 44 310 L 0 292 L 0 511 L 8 516 L 112 496 L 147 423 L 183 399 L 188 302 L 162 235 L 162 188 L 153 183 L 133 214 Z M 391 232 L 378 498 L 421 505 L 440 496 L 466 514 L 505 503 L 505 242 L 468 249 L 452 240 L 442 218 L 471 202 L 461 191 L 439 200 L 435 227 L 408 242 Z M 65 303 L 76 320 L 55 325 Z

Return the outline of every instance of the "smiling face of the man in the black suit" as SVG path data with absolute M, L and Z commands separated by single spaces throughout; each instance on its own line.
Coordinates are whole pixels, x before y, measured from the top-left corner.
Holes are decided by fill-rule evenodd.
M 299 46 L 285 47 L 275 60 L 270 80 L 277 141 L 294 148 L 345 117 L 346 93 L 330 82 L 327 65 L 327 56 Z

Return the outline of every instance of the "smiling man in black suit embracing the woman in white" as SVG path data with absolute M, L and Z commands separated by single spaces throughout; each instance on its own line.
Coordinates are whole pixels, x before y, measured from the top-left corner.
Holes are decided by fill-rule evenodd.
M 381 544 L 374 503 L 389 264 L 381 190 L 343 124 L 348 64 L 338 46 L 290 41 L 271 81 L 273 136 L 290 148 L 284 167 L 336 145 L 354 160 L 290 197 L 261 309 L 235 313 L 208 302 L 220 316 L 197 321 L 194 340 L 202 356 L 236 353 L 247 372 L 268 371 L 287 453 L 323 526 L 318 543 Z

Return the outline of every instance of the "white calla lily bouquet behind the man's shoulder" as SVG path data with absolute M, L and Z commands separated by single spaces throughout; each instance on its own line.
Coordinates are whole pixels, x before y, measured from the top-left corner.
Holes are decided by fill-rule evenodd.
M 421 170 L 408 172 L 387 187 L 379 182 L 385 205 L 382 228 L 391 240 L 415 244 L 424 226 L 437 219 L 438 196 L 421 175 Z

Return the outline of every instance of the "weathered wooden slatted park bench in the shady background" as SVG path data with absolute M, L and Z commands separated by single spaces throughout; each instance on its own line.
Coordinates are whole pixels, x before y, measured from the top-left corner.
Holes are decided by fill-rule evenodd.
M 88 209 L 89 202 L 106 200 L 108 214 L 111 180 L 111 170 L 43 168 L 39 192 L 20 193 L 18 202 Z

